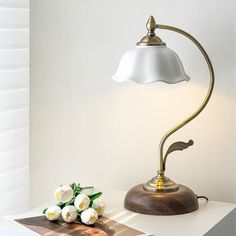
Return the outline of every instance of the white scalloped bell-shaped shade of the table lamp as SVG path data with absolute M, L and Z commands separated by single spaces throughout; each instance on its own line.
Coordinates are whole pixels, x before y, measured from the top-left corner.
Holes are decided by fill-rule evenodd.
M 178 55 L 166 46 L 136 46 L 129 50 L 112 78 L 141 84 L 156 81 L 174 84 L 190 79 Z

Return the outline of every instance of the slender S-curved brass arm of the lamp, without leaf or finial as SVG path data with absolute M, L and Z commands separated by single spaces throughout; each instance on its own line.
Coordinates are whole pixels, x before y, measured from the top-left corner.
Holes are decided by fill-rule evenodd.
M 214 76 L 214 69 L 211 63 L 211 60 L 209 58 L 209 56 L 207 55 L 205 49 L 202 47 L 202 45 L 189 33 L 183 31 L 182 29 L 173 27 L 173 26 L 168 26 L 168 25 L 156 25 L 157 29 L 165 29 L 165 30 L 170 30 L 170 31 L 174 31 L 176 33 L 182 34 L 185 37 L 187 37 L 189 40 L 191 40 L 196 46 L 197 48 L 201 51 L 203 57 L 206 60 L 206 63 L 208 65 L 208 69 L 209 69 L 209 73 L 210 73 L 210 84 L 209 84 L 209 88 L 207 91 L 207 95 L 204 99 L 204 101 L 202 102 L 202 104 L 200 105 L 200 107 L 192 114 L 190 115 L 188 118 L 186 118 L 183 122 L 179 123 L 177 126 L 175 126 L 174 128 L 172 128 L 171 130 L 169 130 L 161 139 L 160 144 L 159 144 L 159 170 L 158 173 L 163 175 L 164 174 L 164 157 L 163 157 L 163 147 L 164 144 L 167 140 L 168 137 L 170 137 L 173 133 L 175 133 L 177 130 L 179 130 L 180 128 L 182 128 L 184 125 L 188 124 L 191 120 L 193 120 L 196 116 L 198 116 L 202 110 L 206 107 L 207 103 L 210 100 L 213 88 L 214 88 L 214 83 L 215 83 L 215 76 Z

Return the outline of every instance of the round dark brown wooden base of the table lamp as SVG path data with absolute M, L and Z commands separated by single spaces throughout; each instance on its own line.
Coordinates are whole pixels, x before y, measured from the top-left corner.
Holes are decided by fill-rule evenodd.
M 184 185 L 174 192 L 152 192 L 136 185 L 125 197 L 126 209 L 148 215 L 180 215 L 198 209 L 195 193 Z

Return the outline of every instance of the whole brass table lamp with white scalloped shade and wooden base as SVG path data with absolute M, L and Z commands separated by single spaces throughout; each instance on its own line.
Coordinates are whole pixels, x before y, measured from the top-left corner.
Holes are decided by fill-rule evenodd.
M 184 214 L 198 209 L 198 197 L 190 188 L 177 184 L 165 176 L 166 160 L 170 153 L 182 151 L 193 145 L 193 140 L 175 142 L 167 148 L 165 154 L 164 144 L 172 134 L 188 124 L 206 107 L 214 87 L 214 70 L 204 48 L 189 33 L 173 26 L 156 24 L 153 16 L 149 17 L 146 27 L 147 35 L 137 43 L 134 49 L 126 52 L 122 57 L 118 69 L 112 77 L 114 80 L 117 82 L 133 81 L 140 84 L 158 81 L 175 84 L 190 79 L 185 73 L 178 55 L 156 36 L 156 29 L 164 29 L 186 36 L 197 46 L 208 65 L 210 83 L 207 95 L 200 107 L 183 122 L 169 130 L 161 139 L 157 175 L 148 182 L 131 188 L 126 194 L 124 206 L 133 212 L 149 215 Z

